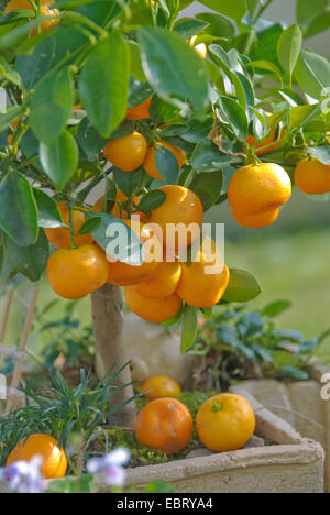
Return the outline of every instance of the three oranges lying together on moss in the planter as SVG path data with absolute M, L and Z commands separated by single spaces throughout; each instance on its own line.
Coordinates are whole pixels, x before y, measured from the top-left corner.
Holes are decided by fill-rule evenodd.
M 138 441 L 166 454 L 187 447 L 194 420 L 188 408 L 176 398 L 182 393 L 178 383 L 166 376 L 152 377 L 143 384 L 142 392 L 151 402 L 138 416 Z M 255 416 L 245 398 L 220 394 L 201 405 L 196 428 L 200 441 L 213 452 L 239 450 L 254 434 Z

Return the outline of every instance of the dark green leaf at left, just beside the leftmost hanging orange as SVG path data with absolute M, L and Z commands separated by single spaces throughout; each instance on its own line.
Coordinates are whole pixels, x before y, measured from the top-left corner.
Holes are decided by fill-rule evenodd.
M 50 258 L 50 243 L 43 230 L 40 231 L 38 239 L 33 245 L 19 246 L 6 235 L 3 244 L 6 255 L 15 272 L 33 282 L 41 278 Z

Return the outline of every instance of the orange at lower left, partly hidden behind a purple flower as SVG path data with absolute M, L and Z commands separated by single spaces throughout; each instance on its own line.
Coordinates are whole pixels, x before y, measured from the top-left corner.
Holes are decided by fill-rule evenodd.
M 64 449 L 50 435 L 31 435 L 23 438 L 9 454 L 6 465 L 16 461 L 30 461 L 33 457 L 43 458 L 42 474 L 45 479 L 64 478 L 67 471 L 67 460 Z

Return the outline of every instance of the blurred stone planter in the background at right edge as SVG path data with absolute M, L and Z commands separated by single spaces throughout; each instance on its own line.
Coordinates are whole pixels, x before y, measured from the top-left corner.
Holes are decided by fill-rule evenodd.
M 289 423 L 304 438 L 311 438 L 326 451 L 324 491 L 330 493 L 330 401 L 321 398 L 321 377 L 329 370 L 314 368 L 310 381 L 243 381 L 231 388 L 250 394 L 272 413 Z

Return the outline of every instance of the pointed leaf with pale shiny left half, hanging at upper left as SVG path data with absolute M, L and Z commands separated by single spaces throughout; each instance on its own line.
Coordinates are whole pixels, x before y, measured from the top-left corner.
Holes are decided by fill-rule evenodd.
M 65 130 L 51 145 L 41 143 L 40 160 L 46 175 L 61 191 L 78 166 L 78 146 L 74 136 Z

